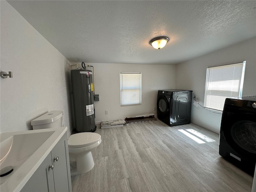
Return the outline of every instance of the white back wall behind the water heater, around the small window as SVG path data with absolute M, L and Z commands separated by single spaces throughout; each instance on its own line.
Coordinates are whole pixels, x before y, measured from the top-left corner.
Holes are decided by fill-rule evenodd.
M 78 64 L 81 68 L 81 64 Z M 157 115 L 157 112 L 153 111 L 153 107 L 156 107 L 158 90 L 176 88 L 176 66 L 174 65 L 86 64 L 94 66 L 95 94 L 100 96 L 100 101 L 94 102 L 96 123 L 140 114 L 154 113 Z M 92 70 L 90 67 L 86 69 Z M 142 73 L 141 105 L 120 106 L 120 72 Z M 108 110 L 108 115 L 105 115 L 105 110 Z

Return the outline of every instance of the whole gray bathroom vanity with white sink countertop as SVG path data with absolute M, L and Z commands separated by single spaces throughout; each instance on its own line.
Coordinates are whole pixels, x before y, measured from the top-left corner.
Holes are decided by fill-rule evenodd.
M 4 144 L 4 141 L 7 143 L 11 140 L 12 144 L 7 154 L 1 154 L 1 169 L 11 165 L 13 171 L 1 177 L 0 190 L 71 192 L 66 131 L 67 128 L 50 128 L 2 133 L 3 147 L 8 150 L 8 145 Z M 23 151 L 30 152 L 24 154 Z

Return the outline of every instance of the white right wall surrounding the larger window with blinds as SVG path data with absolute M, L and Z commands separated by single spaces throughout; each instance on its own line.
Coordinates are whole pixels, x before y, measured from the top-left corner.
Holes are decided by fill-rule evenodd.
M 176 88 L 193 90 L 198 102 L 204 104 L 206 68 L 246 60 L 243 96 L 256 95 L 256 38 L 178 64 Z M 216 133 L 220 132 L 222 114 L 214 114 L 192 104 L 191 120 Z

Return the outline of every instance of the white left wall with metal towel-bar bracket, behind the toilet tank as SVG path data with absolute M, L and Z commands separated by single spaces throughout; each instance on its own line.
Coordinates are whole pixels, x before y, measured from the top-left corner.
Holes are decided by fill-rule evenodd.
M 62 110 L 70 134 L 70 66 L 68 60 L 41 36 L 10 4 L 1 3 L 0 132 L 30 130 L 31 120 Z

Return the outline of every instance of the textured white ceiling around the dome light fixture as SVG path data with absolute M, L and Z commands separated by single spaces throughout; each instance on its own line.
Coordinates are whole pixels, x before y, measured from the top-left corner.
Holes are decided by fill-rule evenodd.
M 71 62 L 177 64 L 256 36 L 255 0 L 8 3 Z

